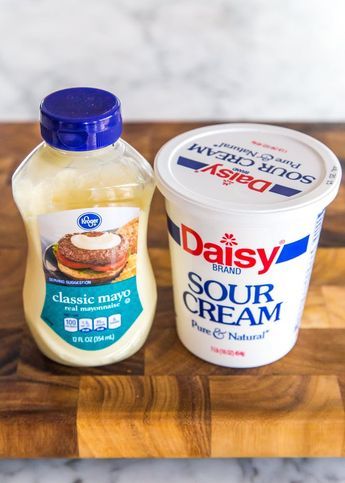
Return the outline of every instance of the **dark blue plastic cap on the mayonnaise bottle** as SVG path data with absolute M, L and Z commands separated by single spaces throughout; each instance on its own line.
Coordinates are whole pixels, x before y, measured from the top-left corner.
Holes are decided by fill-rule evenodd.
M 53 92 L 43 99 L 40 110 L 42 137 L 58 149 L 99 149 L 121 136 L 120 101 L 102 89 L 72 87 Z

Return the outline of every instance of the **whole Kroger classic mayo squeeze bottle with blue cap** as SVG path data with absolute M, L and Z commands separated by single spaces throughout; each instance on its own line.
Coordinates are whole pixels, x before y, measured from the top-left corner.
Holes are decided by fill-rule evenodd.
M 131 356 L 155 312 L 152 169 L 121 131 L 113 94 L 54 92 L 41 104 L 44 142 L 13 175 L 28 238 L 25 317 L 40 350 L 70 366 Z

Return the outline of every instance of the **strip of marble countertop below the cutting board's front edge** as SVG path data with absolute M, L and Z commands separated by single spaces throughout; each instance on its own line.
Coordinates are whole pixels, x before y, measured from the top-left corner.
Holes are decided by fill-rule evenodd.
M 343 483 L 342 459 L 11 460 L 1 483 Z

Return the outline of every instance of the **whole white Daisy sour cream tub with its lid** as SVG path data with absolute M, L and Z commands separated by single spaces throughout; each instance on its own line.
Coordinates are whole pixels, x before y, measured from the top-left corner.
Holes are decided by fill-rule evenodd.
M 166 143 L 155 173 L 181 342 L 201 359 L 236 368 L 286 355 L 325 209 L 339 189 L 334 153 L 291 129 L 220 124 Z

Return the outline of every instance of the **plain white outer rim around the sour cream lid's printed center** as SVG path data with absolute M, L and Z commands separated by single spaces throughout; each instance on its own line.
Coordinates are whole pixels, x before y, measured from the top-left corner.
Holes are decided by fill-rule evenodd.
M 261 133 L 283 135 L 312 148 L 324 162 L 326 173 L 324 178 L 313 190 L 296 199 L 290 199 L 284 204 L 279 202 L 262 203 L 259 207 L 253 206 L 254 204 L 245 205 L 233 201 L 226 204 L 221 203 L 220 200 L 210 198 L 210 196 L 199 195 L 198 193 L 189 190 L 188 187 L 182 189 L 182 184 L 177 185 L 176 180 L 172 175 L 170 165 L 174 155 L 178 153 L 179 149 L 181 149 L 186 141 L 196 140 L 200 135 L 206 133 L 219 134 L 229 131 L 248 132 L 254 130 Z M 336 178 L 333 180 L 333 184 L 327 184 L 327 175 L 334 167 L 336 167 Z M 325 144 L 307 134 L 290 128 L 257 123 L 223 123 L 205 126 L 182 133 L 172 138 L 159 149 L 155 156 L 154 170 L 157 186 L 168 200 L 175 203 L 184 202 L 213 212 L 230 214 L 273 214 L 301 210 L 311 206 L 315 207 L 315 209 L 320 209 L 321 211 L 336 197 L 341 181 L 341 166 L 339 160 Z

